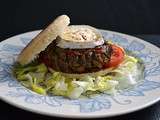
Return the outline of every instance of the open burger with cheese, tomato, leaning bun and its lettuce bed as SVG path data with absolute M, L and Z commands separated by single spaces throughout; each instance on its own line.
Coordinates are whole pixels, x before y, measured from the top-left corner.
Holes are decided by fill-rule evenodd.
M 137 83 L 138 59 L 88 25 L 69 25 L 57 17 L 21 51 L 14 75 L 43 95 L 71 99 L 105 93 Z

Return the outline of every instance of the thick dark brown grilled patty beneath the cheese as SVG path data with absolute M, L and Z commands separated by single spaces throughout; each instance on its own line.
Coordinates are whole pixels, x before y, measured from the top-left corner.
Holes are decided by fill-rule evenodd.
M 112 54 L 111 45 L 88 49 L 60 48 L 56 40 L 39 54 L 38 60 L 55 71 L 64 73 L 91 73 L 104 69 Z

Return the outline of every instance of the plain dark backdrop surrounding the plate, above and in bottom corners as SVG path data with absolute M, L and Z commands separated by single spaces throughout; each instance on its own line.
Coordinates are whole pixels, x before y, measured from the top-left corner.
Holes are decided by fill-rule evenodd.
M 88 24 L 138 35 L 160 46 L 159 0 L 0 0 L 0 41 L 42 29 L 61 14 L 69 15 L 71 24 Z M 57 118 L 27 112 L 0 101 L 0 120 L 7 119 Z M 160 102 L 144 110 L 107 120 L 160 120 Z

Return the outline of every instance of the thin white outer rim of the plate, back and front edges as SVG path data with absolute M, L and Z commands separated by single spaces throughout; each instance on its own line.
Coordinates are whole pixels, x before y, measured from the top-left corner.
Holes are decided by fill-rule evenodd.
M 110 33 L 115 33 L 115 34 L 119 34 L 119 35 L 123 35 L 123 36 L 128 36 L 128 37 L 132 37 L 132 38 L 135 38 L 135 39 L 138 39 L 140 41 L 143 41 L 145 44 L 150 44 L 154 47 L 156 47 L 157 49 L 160 49 L 159 47 L 157 47 L 156 45 L 150 43 L 150 42 L 147 42 L 147 41 L 144 41 L 143 39 L 141 38 L 138 38 L 138 37 L 135 37 L 135 36 L 132 36 L 132 35 L 128 35 L 128 34 L 124 34 L 124 33 L 120 33 L 120 32 L 116 32 L 116 31 L 110 31 L 110 30 L 104 30 L 104 29 L 98 29 L 100 30 L 101 32 L 110 32 Z M 29 32 L 25 32 L 25 33 L 21 33 L 21 34 L 18 34 L 18 35 L 14 35 L 12 37 L 9 37 L 3 41 L 0 42 L 0 44 L 4 41 L 7 41 L 7 40 L 10 40 L 10 39 L 13 39 L 14 37 L 18 37 L 18 36 L 23 36 L 24 34 L 31 34 L 33 32 L 40 32 L 41 30 L 33 30 L 33 31 L 29 31 Z M 141 106 L 136 106 L 134 108 L 130 108 L 129 110 L 127 111 L 122 111 L 120 113 L 112 113 L 112 114 L 103 114 L 103 115 L 66 115 L 66 114 L 57 114 L 57 113 L 47 113 L 47 112 L 44 112 L 44 111 L 40 111 L 40 110 L 35 110 L 35 109 L 31 109 L 29 107 L 26 107 L 26 106 L 23 106 L 23 105 L 20 105 L 20 104 L 16 104 L 16 102 L 13 102 L 9 99 L 7 99 L 6 97 L 4 96 L 1 96 L 0 95 L 0 100 L 10 104 L 10 105 L 13 105 L 17 108 L 20 108 L 20 109 L 23 109 L 23 110 L 27 110 L 27 111 L 30 111 L 32 113 L 37 113 L 37 114 L 42 114 L 42 115 L 47 115 L 47 116 L 56 116 L 56 117 L 62 117 L 62 118 L 103 118 L 103 117 L 113 117 L 113 116 L 120 116 L 120 115 L 124 115 L 124 114 L 128 114 L 128 113 L 132 113 L 132 112 L 135 112 L 135 111 L 139 111 L 139 110 L 142 110 L 142 109 L 145 109 L 155 103 L 157 103 L 158 101 L 160 101 L 160 97 L 157 97 L 155 100 L 152 100 L 146 104 L 142 104 Z

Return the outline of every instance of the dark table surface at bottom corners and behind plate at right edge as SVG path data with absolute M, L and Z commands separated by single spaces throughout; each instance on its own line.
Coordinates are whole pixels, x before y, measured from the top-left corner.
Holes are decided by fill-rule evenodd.
M 160 35 L 135 35 L 139 38 L 144 39 L 158 47 L 160 47 Z M 51 120 L 51 119 L 64 119 L 48 117 L 44 115 L 39 115 L 31 113 L 16 107 L 13 107 L 4 101 L 0 100 L 0 120 Z M 121 115 L 117 117 L 101 118 L 105 120 L 160 120 L 160 102 L 126 115 Z

